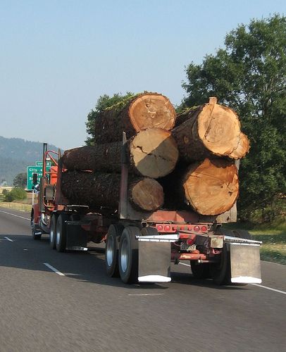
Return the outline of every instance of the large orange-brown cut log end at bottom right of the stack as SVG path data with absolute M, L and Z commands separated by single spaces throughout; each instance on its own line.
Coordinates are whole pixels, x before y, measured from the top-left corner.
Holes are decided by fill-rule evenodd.
M 185 200 L 201 215 L 230 210 L 239 192 L 237 168 L 224 159 L 205 159 L 189 167 L 183 183 Z

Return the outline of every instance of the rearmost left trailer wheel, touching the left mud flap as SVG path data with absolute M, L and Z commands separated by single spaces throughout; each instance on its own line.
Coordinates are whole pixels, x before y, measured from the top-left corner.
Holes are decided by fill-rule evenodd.
M 140 235 L 137 227 L 125 227 L 119 244 L 119 273 L 125 284 L 132 284 L 138 279 L 138 242 Z

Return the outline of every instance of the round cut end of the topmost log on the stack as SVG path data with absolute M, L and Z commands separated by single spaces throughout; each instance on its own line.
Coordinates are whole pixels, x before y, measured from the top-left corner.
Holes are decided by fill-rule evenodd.
M 175 125 L 176 113 L 166 96 L 145 93 L 132 101 L 129 116 L 136 132 L 154 127 L 171 130 Z

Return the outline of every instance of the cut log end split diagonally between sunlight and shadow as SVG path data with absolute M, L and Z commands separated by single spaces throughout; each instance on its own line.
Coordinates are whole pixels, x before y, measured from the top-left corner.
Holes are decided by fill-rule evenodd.
M 171 133 L 160 128 L 140 131 L 130 141 L 130 165 L 142 176 L 158 178 L 175 168 L 179 152 Z

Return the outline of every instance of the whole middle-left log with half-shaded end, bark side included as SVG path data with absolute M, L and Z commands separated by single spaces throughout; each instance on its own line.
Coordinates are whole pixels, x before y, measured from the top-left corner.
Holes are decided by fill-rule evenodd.
M 130 172 L 145 177 L 168 175 L 178 161 L 178 149 L 171 133 L 159 128 L 138 132 L 126 143 Z M 122 142 L 82 146 L 65 151 L 68 170 L 120 172 Z

